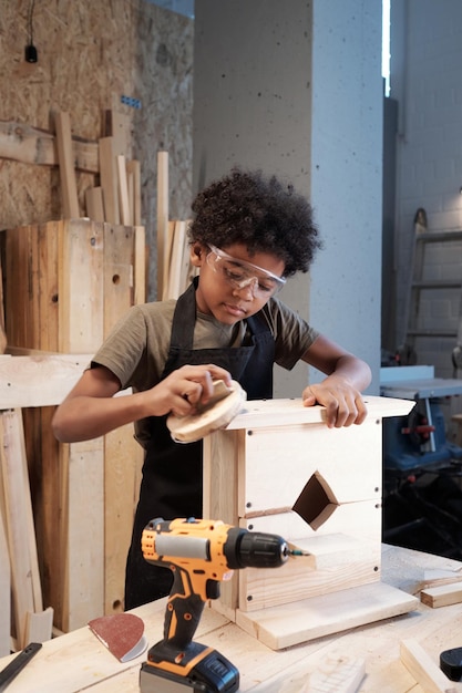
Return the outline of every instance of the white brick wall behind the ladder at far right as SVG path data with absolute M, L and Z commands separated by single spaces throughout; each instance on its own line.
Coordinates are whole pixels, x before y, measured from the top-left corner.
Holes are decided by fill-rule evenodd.
M 419 207 L 429 230 L 462 228 L 462 2 L 394 0 L 391 3 L 390 95 L 399 105 L 396 247 L 397 334 L 403 340 L 413 219 Z M 433 278 L 462 277 L 462 245 L 433 254 Z M 428 327 L 458 325 L 460 291 L 439 293 L 427 308 Z M 455 340 L 421 342 L 420 363 L 452 376 Z

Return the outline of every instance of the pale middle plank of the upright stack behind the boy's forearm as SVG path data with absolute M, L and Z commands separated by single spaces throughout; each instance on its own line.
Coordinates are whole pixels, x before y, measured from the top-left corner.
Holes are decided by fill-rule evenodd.
M 59 350 L 94 353 L 103 341 L 103 225 L 83 219 L 68 224 L 59 256 Z M 64 613 L 63 623 L 57 623 L 64 631 L 101 616 L 104 604 L 104 444 L 96 438 L 66 447 L 60 447 L 66 508 L 61 541 L 66 551 Z

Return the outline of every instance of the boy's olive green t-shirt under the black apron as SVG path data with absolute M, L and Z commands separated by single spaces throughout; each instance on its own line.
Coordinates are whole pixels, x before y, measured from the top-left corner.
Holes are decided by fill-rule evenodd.
M 168 355 L 176 300 L 133 306 L 114 325 L 91 366 L 104 365 L 117 376 L 122 390 L 148 390 L 162 376 Z M 318 332 L 285 306 L 271 298 L 263 314 L 275 339 L 275 362 L 290 370 L 318 337 Z M 213 316 L 197 312 L 194 349 L 240 346 L 248 338 L 247 322 L 223 324 Z M 136 437 L 146 438 L 146 426 L 135 423 Z

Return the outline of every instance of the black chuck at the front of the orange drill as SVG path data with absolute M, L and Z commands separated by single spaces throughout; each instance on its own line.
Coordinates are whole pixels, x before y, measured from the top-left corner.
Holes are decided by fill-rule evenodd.
M 289 547 L 283 537 L 239 527 L 229 529 L 223 550 L 232 570 L 278 568 L 289 557 Z

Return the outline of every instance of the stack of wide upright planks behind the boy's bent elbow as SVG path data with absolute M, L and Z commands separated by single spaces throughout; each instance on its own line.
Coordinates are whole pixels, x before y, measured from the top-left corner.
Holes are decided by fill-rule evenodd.
M 17 273 L 6 272 L 6 329 L 14 353 L 21 348 L 34 359 L 73 355 L 83 371 L 120 316 L 144 300 L 138 231 L 90 219 L 4 231 L 4 266 L 29 277 L 18 283 Z M 132 425 L 59 444 L 51 431 L 54 406 L 44 399 L 51 382 L 44 371 L 43 400 L 31 390 L 22 415 L 43 600 L 53 607 L 54 625 L 69 631 L 123 609 L 142 448 Z

